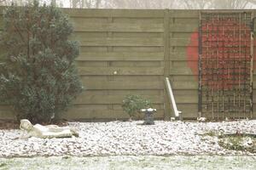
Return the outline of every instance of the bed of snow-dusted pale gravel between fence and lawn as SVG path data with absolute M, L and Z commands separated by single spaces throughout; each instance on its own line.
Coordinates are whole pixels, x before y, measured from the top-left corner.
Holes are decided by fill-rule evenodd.
M 237 122 L 69 122 L 79 138 L 18 139 L 19 129 L 0 130 L 0 157 L 11 156 L 119 156 L 119 155 L 247 155 L 225 150 L 211 131 L 256 133 L 256 121 Z

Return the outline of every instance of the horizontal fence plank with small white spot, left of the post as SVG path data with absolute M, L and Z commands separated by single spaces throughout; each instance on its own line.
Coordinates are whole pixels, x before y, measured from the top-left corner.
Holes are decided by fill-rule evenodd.
M 163 75 L 163 67 L 79 67 L 79 75 Z

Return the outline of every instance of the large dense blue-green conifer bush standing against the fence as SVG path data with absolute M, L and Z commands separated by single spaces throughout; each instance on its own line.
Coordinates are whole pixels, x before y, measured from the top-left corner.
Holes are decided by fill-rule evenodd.
M 73 27 L 54 6 L 38 0 L 24 8 L 14 4 L 3 12 L 0 47 L 1 100 L 15 109 L 17 119 L 57 119 L 81 92 L 74 59 L 79 43 L 69 41 Z

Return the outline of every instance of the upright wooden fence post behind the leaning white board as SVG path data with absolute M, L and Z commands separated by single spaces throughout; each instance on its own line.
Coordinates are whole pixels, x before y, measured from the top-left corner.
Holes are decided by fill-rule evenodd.
M 169 9 L 165 9 L 164 12 L 164 77 L 162 81 L 165 81 L 166 77 L 170 76 L 170 16 Z M 164 111 L 165 111 L 165 120 L 170 120 L 171 118 L 171 105 L 168 99 L 168 94 L 166 91 L 166 86 L 164 86 Z

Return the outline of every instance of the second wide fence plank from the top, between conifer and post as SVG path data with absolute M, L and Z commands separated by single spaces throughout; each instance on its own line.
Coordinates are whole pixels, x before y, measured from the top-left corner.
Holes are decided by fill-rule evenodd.
M 163 32 L 163 24 L 148 23 L 88 23 L 73 21 L 74 31 L 123 31 L 123 32 Z

